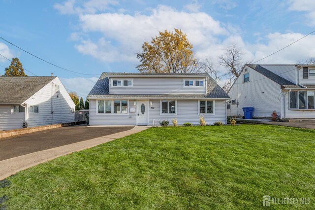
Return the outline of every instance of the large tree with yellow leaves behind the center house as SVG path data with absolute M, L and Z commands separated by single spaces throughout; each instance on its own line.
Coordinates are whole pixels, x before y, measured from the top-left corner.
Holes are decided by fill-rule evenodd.
M 137 53 L 141 64 L 136 68 L 140 72 L 186 73 L 197 67 L 192 44 L 182 30 L 159 32 L 151 44 L 144 42 L 142 49 L 142 53 Z

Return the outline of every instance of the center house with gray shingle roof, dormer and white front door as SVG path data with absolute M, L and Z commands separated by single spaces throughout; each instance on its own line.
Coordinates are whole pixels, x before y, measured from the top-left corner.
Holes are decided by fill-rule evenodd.
M 90 125 L 226 123 L 228 95 L 207 73 L 102 73 L 87 99 Z

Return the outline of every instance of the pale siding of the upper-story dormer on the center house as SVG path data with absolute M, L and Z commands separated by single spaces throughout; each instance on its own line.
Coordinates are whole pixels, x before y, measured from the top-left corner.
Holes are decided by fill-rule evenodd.
M 204 78 L 193 78 L 191 80 L 203 80 Z M 111 78 L 113 80 L 124 80 L 121 78 Z M 190 80 L 190 79 L 189 79 Z M 205 82 L 206 83 L 206 82 Z M 111 86 L 110 94 L 205 94 L 205 86 L 194 88 L 184 87 L 183 78 L 133 78 L 132 87 Z

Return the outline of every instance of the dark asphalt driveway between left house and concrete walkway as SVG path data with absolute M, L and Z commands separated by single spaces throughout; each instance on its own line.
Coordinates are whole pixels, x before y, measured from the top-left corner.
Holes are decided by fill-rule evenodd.
M 126 127 L 69 126 L 34 132 L 0 140 L 0 161 L 51 149 L 79 141 L 90 140 L 132 129 Z

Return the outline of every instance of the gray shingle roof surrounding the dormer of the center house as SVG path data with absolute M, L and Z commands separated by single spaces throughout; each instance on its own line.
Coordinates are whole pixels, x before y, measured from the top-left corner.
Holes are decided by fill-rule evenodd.
M 117 75 L 121 73 L 102 73 L 96 82 L 95 86 L 89 93 L 87 98 L 230 98 L 227 93 L 216 83 L 216 81 L 207 73 L 193 73 L 181 75 L 207 75 L 207 95 L 205 94 L 163 94 L 163 95 L 113 95 L 109 94 L 109 78 L 108 76 Z M 144 73 L 123 73 L 124 75 L 139 75 Z M 145 73 L 145 75 L 164 75 L 163 73 Z M 178 75 L 173 74 L 172 75 Z

